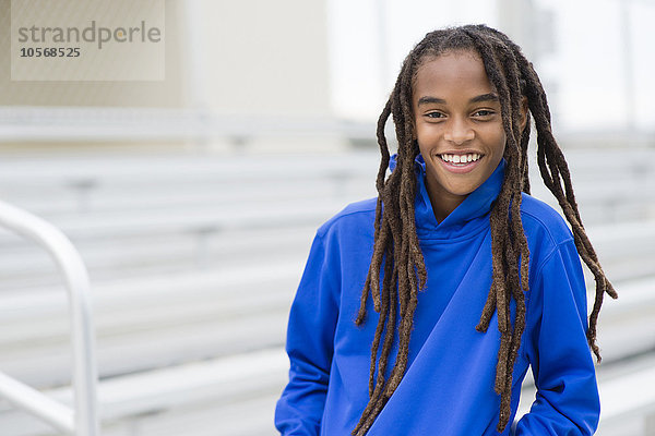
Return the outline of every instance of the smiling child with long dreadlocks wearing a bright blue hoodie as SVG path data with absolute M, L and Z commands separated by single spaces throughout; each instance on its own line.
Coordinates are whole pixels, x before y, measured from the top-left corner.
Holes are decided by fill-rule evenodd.
M 537 162 L 562 217 L 529 196 Z M 390 156 L 384 125 L 396 126 Z M 603 295 L 532 64 L 487 26 L 432 32 L 380 116 L 378 197 L 317 231 L 287 332 L 283 435 L 591 435 Z M 386 169 L 391 174 L 386 177 Z M 596 279 L 587 326 L 580 257 Z M 514 420 L 532 370 L 537 395 Z

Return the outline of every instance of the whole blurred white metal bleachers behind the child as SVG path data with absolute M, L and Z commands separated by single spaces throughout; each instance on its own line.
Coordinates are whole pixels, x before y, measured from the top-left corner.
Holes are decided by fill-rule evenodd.
M 655 386 L 655 149 L 568 158 L 585 226 L 621 295 L 602 313 L 598 434 L 644 435 L 655 414 L 640 389 Z M 90 268 L 103 435 L 275 434 L 286 318 L 313 232 L 374 195 L 378 162 L 376 150 L 0 159 L 0 198 L 62 229 Z M 532 180 L 534 194 L 555 204 L 536 171 Z M 0 368 L 70 402 L 67 300 L 55 266 L 4 231 L 0 259 Z M 524 402 L 529 382 L 525 389 Z M 0 428 L 56 434 L 1 400 Z

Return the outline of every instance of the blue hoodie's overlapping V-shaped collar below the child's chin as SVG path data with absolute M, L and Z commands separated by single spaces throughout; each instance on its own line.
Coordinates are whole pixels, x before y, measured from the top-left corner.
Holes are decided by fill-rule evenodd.
M 396 167 L 397 155 L 393 155 L 389 168 Z M 414 162 L 417 177 L 415 201 L 416 231 L 420 239 L 458 239 L 484 230 L 489 226 L 489 210 L 498 197 L 504 179 L 505 161 L 502 159 L 489 178 L 460 204 L 445 219 L 437 222 L 426 187 L 426 162 L 419 154 Z

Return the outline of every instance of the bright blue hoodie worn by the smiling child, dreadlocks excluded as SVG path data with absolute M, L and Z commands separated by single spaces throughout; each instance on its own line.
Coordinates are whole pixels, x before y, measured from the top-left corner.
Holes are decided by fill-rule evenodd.
M 392 170 L 394 165 L 392 158 Z M 420 155 L 415 167 L 427 289 L 418 295 L 406 374 L 368 435 L 498 435 L 496 315 L 487 332 L 475 327 L 491 284 L 489 210 L 504 161 L 439 223 Z M 529 195 L 523 195 L 521 214 L 531 253 L 529 290 L 510 422 L 528 366 L 537 395 L 529 413 L 502 435 L 591 435 L 599 399 L 573 237 L 558 213 Z M 365 324 L 356 326 L 355 318 L 372 255 L 374 216 L 376 198 L 354 203 L 317 231 L 289 315 L 289 382 L 275 411 L 282 435 L 349 435 L 368 403 L 370 347 L 379 319 L 371 299 Z M 392 356 L 396 350 L 397 338 Z

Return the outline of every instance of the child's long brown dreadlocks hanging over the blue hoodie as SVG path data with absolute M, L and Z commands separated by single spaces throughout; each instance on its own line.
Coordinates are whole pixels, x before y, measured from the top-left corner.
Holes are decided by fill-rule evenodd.
M 537 131 L 537 162 L 541 178 L 571 225 L 577 252 L 596 281 L 596 296 L 590 315 L 587 341 L 598 362 L 600 354 L 596 344 L 596 322 L 603 296 L 608 293 L 617 298 L 600 268 L 580 219 L 569 168 L 552 136 L 546 94 L 532 63 L 525 59 L 519 46 L 504 34 L 485 25 L 468 25 L 427 34 L 405 59 L 393 92 L 378 121 L 377 135 L 382 156 L 376 183 L 379 196 L 374 245 L 356 324 L 361 325 L 365 322 L 369 294 L 380 317 L 371 346 L 370 400 L 352 433 L 355 436 L 368 432 L 407 368 L 409 336 L 418 291 L 424 289 L 427 282 L 427 270 L 416 234 L 414 216 L 417 189 L 414 160 L 419 154 L 419 148 L 413 135 L 413 83 L 425 59 L 453 50 L 473 50 L 479 53 L 489 82 L 499 95 L 502 125 L 507 136 L 505 177 L 489 218 L 492 241 L 492 282 L 479 324 L 476 326 L 478 331 L 486 331 L 493 313 L 498 314 L 501 339 L 495 390 L 500 395 L 500 416 L 497 427 L 499 432 L 505 428 L 511 415 L 512 370 L 525 327 L 524 292 L 528 289 L 529 252 L 521 222 L 520 207 L 521 193 L 529 193 L 527 145 L 531 114 L 534 117 Z M 527 122 L 522 129 L 523 98 L 527 99 L 529 112 L 525 114 Z M 390 153 L 384 126 L 390 116 L 393 117 L 395 124 L 398 150 L 396 169 L 385 179 Z M 380 287 L 382 267 L 384 274 Z M 512 299 L 516 306 L 514 319 L 511 319 L 510 311 Z M 391 374 L 386 378 L 386 368 L 396 335 L 398 351 Z

